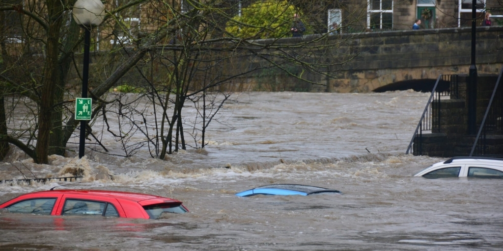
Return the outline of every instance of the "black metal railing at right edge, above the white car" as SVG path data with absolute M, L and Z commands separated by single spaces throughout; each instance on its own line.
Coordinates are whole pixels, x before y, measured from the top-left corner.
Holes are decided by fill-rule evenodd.
M 501 67 L 499 71 L 498 79 L 496 80 L 491 98 L 487 104 L 484 118 L 482 119 L 477 137 L 473 143 L 470 156 L 486 155 L 487 134 L 503 135 L 503 87 L 500 87 L 502 75 L 503 67 Z

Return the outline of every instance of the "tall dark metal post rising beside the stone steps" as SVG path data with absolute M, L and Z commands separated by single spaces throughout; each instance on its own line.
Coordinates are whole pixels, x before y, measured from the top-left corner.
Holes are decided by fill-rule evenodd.
M 476 134 L 477 127 L 477 66 L 475 65 L 475 35 L 477 18 L 477 0 L 472 0 L 471 63 L 470 82 L 468 83 L 468 134 Z

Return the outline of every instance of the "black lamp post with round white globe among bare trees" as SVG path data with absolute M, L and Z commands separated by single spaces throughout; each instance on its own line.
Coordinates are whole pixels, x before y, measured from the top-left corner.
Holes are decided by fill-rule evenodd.
M 82 98 L 87 98 L 91 30 L 103 22 L 103 17 L 105 16 L 105 6 L 99 0 L 77 0 L 75 5 L 73 5 L 72 15 L 75 22 L 84 28 L 86 33 L 84 39 L 84 63 L 82 69 Z M 91 109 L 91 107 L 89 107 L 89 109 Z M 87 120 L 80 120 L 78 158 L 84 157 L 84 149 L 86 146 L 86 124 Z

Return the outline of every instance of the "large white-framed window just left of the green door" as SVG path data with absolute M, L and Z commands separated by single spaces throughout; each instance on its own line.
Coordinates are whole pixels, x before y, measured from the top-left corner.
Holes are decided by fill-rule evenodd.
M 369 0 L 367 28 L 391 30 L 393 28 L 393 0 Z

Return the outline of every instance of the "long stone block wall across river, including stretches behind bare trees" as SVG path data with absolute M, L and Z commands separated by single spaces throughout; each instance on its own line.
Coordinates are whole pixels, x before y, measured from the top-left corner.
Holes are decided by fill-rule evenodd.
M 470 66 L 470 28 L 445 28 L 420 31 L 386 31 L 366 33 L 344 33 L 326 38 L 330 47 L 315 50 L 320 53 L 320 62 L 331 62 L 336 65 L 319 69 L 333 77 L 309 72 L 299 66 L 284 63 L 290 74 L 271 65 L 270 62 L 260 59 L 256 55 L 248 57 L 229 58 L 222 61 L 225 74 L 232 75 L 245 70 L 262 68 L 233 78 L 221 88 L 232 91 L 311 91 L 311 92 L 369 92 L 379 87 L 401 83 L 410 80 L 435 80 L 439 74 L 464 74 L 468 73 Z M 279 40 L 258 40 L 257 43 L 283 43 L 306 42 L 306 47 L 293 47 L 289 53 L 302 54 L 301 50 L 312 50 L 313 46 L 323 47 L 326 40 L 320 39 L 319 34 L 307 35 L 302 38 L 282 38 Z M 309 41 L 317 41 L 309 44 Z M 479 74 L 497 73 L 503 65 L 503 27 L 478 27 L 477 28 L 476 62 Z M 275 51 L 269 49 L 267 53 Z M 106 75 L 123 60 L 128 59 L 128 53 L 119 54 L 116 59 L 110 57 L 108 52 L 96 52 L 91 56 L 90 87 L 103 82 Z M 115 54 L 113 54 L 115 55 Z M 353 57 L 350 61 L 345 59 Z M 209 57 L 209 56 L 208 56 Z M 348 58 L 349 57 L 349 58 Z M 275 59 L 276 60 L 276 59 Z M 75 58 L 75 62 L 82 62 Z M 145 61 L 148 62 L 148 61 Z M 345 62 L 345 63 L 342 63 Z M 341 63 L 340 65 L 337 65 Z M 143 72 L 152 72 L 150 81 L 161 81 L 166 78 L 166 73 L 171 71 L 168 63 L 139 63 L 138 68 Z M 152 69 L 150 69 L 152 68 Z M 77 69 L 81 69 L 77 66 Z M 98 73 L 102 73 L 98 75 Z M 213 72 L 212 72 L 213 74 Z M 302 81 L 301 76 L 312 83 Z M 198 78 L 199 79 L 199 78 Z M 76 72 L 70 74 L 69 85 L 79 85 L 80 80 Z M 143 84 L 147 83 L 143 76 L 136 70 L 129 71 L 118 84 Z

